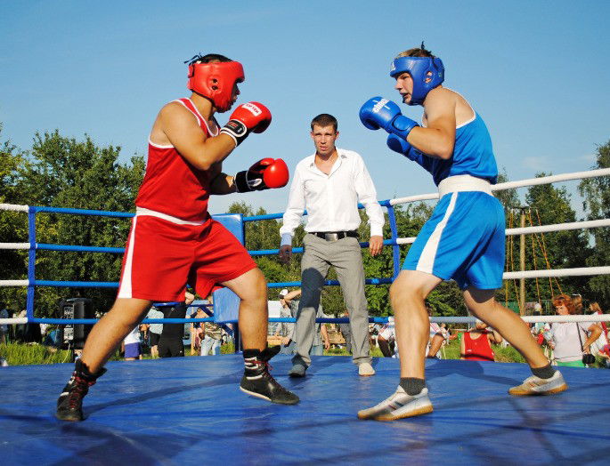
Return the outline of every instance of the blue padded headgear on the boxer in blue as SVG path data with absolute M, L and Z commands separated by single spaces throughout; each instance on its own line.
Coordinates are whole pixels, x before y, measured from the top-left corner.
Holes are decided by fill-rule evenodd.
M 431 72 L 432 76 L 427 76 Z M 396 77 L 409 73 L 413 79 L 413 92 L 409 105 L 421 105 L 427 93 L 444 81 L 443 61 L 432 57 L 400 57 L 392 61 L 390 76 Z M 430 79 L 427 83 L 426 79 Z

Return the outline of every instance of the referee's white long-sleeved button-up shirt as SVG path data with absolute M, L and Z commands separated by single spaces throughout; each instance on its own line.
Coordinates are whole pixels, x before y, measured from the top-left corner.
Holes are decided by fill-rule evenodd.
M 292 244 L 305 210 L 307 232 L 358 229 L 358 202 L 364 205 L 369 217 L 370 236 L 383 235 L 384 215 L 362 157 L 353 150 L 337 148 L 337 152 L 328 175 L 315 165 L 315 154 L 297 164 L 280 229 L 281 245 Z

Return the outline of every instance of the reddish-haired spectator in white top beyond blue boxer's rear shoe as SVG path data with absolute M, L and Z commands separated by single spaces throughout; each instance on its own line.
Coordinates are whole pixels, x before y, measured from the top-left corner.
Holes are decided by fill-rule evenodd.
M 570 296 L 559 294 L 553 298 L 553 306 L 559 316 L 576 314 Z M 586 367 L 583 354 L 590 354 L 590 346 L 601 334 L 601 327 L 592 322 L 553 322 L 545 334 L 553 350 L 557 366 Z

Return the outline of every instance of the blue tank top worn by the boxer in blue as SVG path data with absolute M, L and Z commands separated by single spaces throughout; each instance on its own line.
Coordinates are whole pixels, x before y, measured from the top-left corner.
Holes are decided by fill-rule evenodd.
M 432 173 L 435 185 L 449 176 L 469 174 L 495 184 L 498 167 L 493 157 L 492 138 L 483 118 L 475 118 L 456 128 L 453 155 L 449 160 L 427 157 L 413 148 L 407 156 Z

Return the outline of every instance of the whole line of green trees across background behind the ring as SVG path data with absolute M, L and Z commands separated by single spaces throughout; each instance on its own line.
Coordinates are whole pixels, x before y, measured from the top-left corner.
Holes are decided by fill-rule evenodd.
M 0 135 L 2 126 L 0 125 Z M 12 145 L 0 143 L 0 202 L 18 205 L 41 205 L 130 212 L 134 197 L 142 182 L 143 157 L 133 157 L 129 164 L 118 163 L 119 147 L 100 147 L 88 136 L 82 141 L 53 133 L 37 134 L 27 152 Z M 596 168 L 610 166 L 610 141 L 600 146 Z M 545 176 L 538 173 L 537 176 Z M 499 182 L 506 181 L 501 173 Z M 610 218 L 610 179 L 608 177 L 583 180 L 579 190 L 585 198 L 583 209 L 587 219 Z M 518 227 L 521 213 L 526 225 L 546 225 L 576 221 L 570 194 L 553 185 L 533 186 L 519 200 L 515 189 L 497 191 L 496 196 L 505 207 L 507 227 Z M 524 207 L 525 208 L 522 208 Z M 398 237 L 416 237 L 432 213 L 434 205 L 427 203 L 395 205 L 394 219 Z M 263 208 L 256 212 L 246 202 L 231 205 L 229 213 L 246 217 L 266 214 Z M 360 241 L 367 241 L 370 230 L 366 215 L 361 211 Z M 277 250 L 280 245 L 281 219 L 248 221 L 245 225 L 246 246 L 250 251 Z M 37 242 L 58 245 L 98 245 L 122 247 L 125 245 L 129 221 L 112 217 L 72 215 L 64 213 L 37 214 Z M 610 229 L 592 229 L 589 236 L 582 230 L 568 230 L 544 235 L 527 235 L 525 269 L 561 269 L 610 263 Z M 303 244 L 305 229 L 299 226 L 293 245 Z M 391 237 L 389 217 L 386 213 L 384 237 Z M 519 237 L 508 237 L 507 268 L 519 269 Z M 0 211 L 0 242 L 18 243 L 28 240 L 28 219 L 24 213 Z M 592 247 L 591 247 L 592 246 Z M 409 245 L 398 248 L 398 266 L 402 265 Z M 289 265 L 281 264 L 277 253 L 257 254 L 256 263 L 270 283 L 300 281 L 300 255 L 294 254 Z M 394 277 L 393 246 L 385 246 L 378 257 L 371 257 L 368 249 L 362 251 L 365 276 Z M 121 255 L 111 253 L 65 253 L 37 251 L 36 277 L 38 280 L 58 281 L 118 281 Z M 3 250 L 0 255 L 2 279 L 27 277 L 27 251 Z M 330 270 L 329 279 L 336 279 Z M 610 281 L 607 276 L 564 277 L 561 279 L 528 279 L 526 300 L 548 299 L 559 290 L 582 293 L 591 300 L 610 304 Z M 500 290 L 499 299 L 514 300 L 516 284 L 508 283 Z M 388 300 L 389 285 L 368 285 L 366 296 L 372 316 L 392 313 Z M 507 291 L 508 290 L 508 291 Z M 277 288 L 270 288 L 268 297 L 277 299 Z M 0 300 L 9 303 L 13 310 L 25 307 L 25 288 L 0 288 Z M 94 300 L 95 309 L 109 308 L 116 295 L 113 288 L 72 289 L 64 287 L 38 287 L 36 294 L 37 316 L 53 317 L 61 298 L 82 295 Z M 466 315 L 461 292 L 453 282 L 439 285 L 427 300 L 436 315 Z M 327 313 L 341 315 L 345 310 L 339 286 L 327 286 L 322 293 L 322 304 Z

